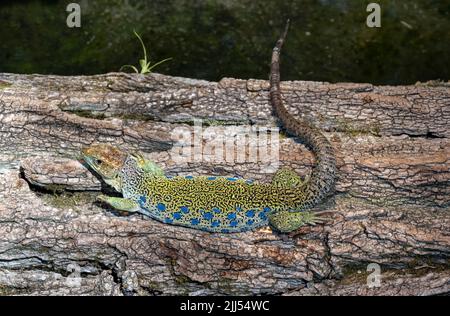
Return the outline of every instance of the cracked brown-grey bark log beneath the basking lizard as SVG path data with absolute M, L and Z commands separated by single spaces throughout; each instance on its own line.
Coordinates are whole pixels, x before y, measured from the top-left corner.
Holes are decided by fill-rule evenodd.
M 103 208 L 95 195 L 108 188 L 77 155 L 108 142 L 169 174 L 269 181 L 269 163 L 179 163 L 172 136 L 192 131 L 194 117 L 212 135 L 274 126 L 267 81 L 0 74 L 0 293 L 449 294 L 449 84 L 296 81 L 282 92 L 335 148 L 337 192 L 319 207 L 328 223 L 287 236 L 210 234 Z M 313 163 L 281 137 L 280 165 L 307 175 Z M 381 267 L 379 287 L 368 287 L 370 263 Z

